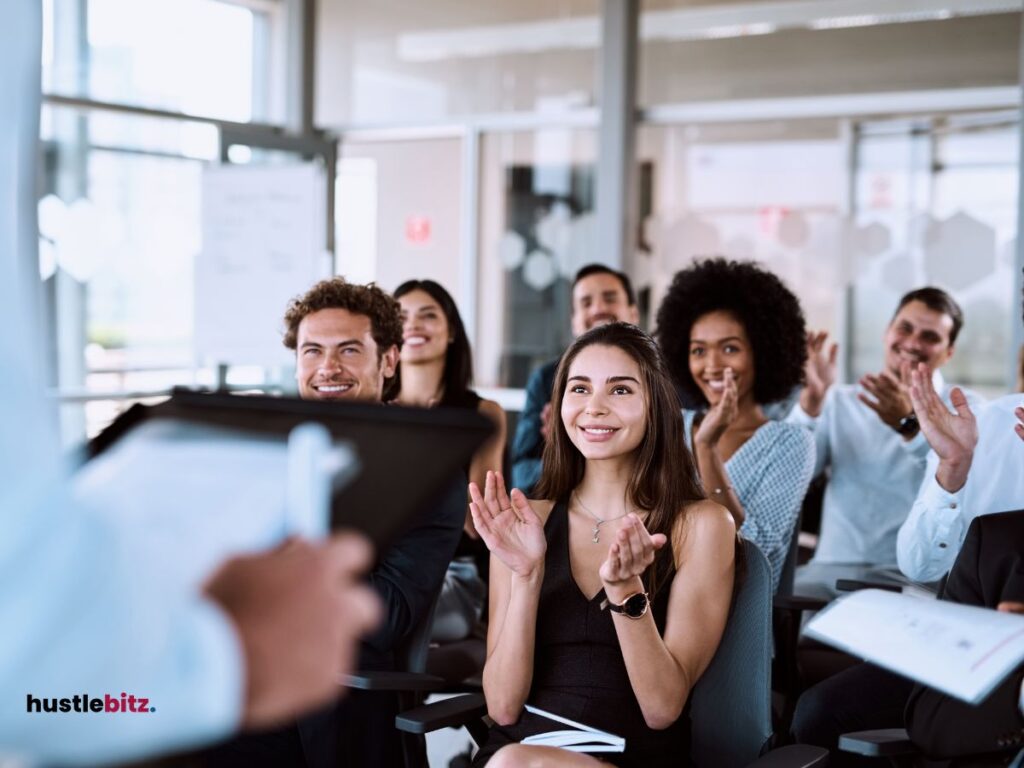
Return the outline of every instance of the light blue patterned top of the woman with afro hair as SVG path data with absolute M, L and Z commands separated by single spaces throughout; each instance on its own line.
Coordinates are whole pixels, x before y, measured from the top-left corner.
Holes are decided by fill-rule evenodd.
M 687 445 L 695 417 L 683 411 Z M 814 472 L 814 438 L 796 424 L 769 421 L 729 457 L 725 471 L 746 514 L 739 532 L 768 558 L 774 592 Z

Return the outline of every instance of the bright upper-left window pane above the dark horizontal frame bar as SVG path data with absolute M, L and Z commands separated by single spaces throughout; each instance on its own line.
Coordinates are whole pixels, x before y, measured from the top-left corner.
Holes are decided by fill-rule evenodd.
M 44 9 L 47 92 L 239 122 L 281 119 L 279 0 L 46 0 Z

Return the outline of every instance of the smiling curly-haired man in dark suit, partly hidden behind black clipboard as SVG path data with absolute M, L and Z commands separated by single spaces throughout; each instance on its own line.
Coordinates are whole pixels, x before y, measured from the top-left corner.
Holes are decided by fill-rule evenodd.
M 284 342 L 295 350 L 303 399 L 390 399 L 401 337 L 398 302 L 375 285 L 343 278 L 321 281 L 293 299 L 285 313 Z M 383 505 L 386 490 L 381 488 Z M 400 663 L 397 652 L 427 621 L 440 592 L 465 515 L 466 481 L 460 477 L 381 553 L 370 586 L 384 606 L 384 622 L 362 643 L 360 669 L 394 670 Z M 400 742 L 393 738 L 395 706 L 392 694 L 352 691 L 339 706 L 302 718 L 297 728 L 229 745 L 211 765 L 253 765 L 252 754 L 263 756 L 259 765 L 400 764 Z

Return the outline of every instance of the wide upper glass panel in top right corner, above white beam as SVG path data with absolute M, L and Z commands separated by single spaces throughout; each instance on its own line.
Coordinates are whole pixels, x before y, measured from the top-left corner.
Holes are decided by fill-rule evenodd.
M 1020 6 L 954 5 L 642 0 L 639 102 L 1016 86 Z

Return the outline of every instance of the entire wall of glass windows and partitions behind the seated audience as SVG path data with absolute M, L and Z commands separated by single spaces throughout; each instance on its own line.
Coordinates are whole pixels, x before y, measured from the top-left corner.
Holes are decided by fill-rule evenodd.
M 153 39 L 171 5 L 187 66 Z M 340 138 L 335 270 L 443 283 L 478 386 L 521 387 L 568 342 L 568 281 L 596 253 L 597 0 L 45 0 L 41 270 L 71 439 L 127 395 L 214 381 L 193 354 L 202 170 L 282 162 L 244 143 L 225 156 L 217 121 L 284 125 L 301 6 L 315 6 L 313 134 Z M 1019 314 L 1020 9 L 874 6 L 851 19 L 831 0 L 639 3 L 623 263 L 650 329 L 693 258 L 762 261 L 840 339 L 846 380 L 878 367 L 898 295 L 937 284 L 967 315 L 950 378 L 997 393 Z M 230 60 L 200 67 L 212 35 Z M 123 399 L 96 404 L 101 391 Z

